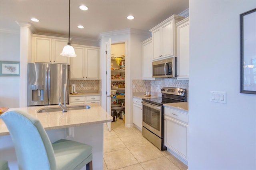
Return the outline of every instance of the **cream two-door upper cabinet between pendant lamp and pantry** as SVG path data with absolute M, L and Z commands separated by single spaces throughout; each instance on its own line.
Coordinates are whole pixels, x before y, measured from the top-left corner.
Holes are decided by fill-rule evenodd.
M 76 57 L 70 60 L 70 79 L 96 80 L 99 78 L 99 48 L 72 45 Z

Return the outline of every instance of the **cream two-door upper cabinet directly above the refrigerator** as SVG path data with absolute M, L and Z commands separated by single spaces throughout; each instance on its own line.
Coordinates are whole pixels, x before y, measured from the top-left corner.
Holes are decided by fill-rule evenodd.
M 67 38 L 32 34 L 32 62 L 69 64 L 69 57 L 60 55 L 67 42 Z

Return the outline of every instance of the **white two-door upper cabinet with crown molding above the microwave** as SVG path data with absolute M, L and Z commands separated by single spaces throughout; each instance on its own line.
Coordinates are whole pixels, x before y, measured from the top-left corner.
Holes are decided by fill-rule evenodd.
M 176 56 L 176 26 L 184 17 L 172 15 L 150 31 L 152 32 L 153 60 Z

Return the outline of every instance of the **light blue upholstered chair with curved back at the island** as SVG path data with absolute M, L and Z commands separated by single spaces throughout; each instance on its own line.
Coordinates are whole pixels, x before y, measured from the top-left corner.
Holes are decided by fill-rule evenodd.
M 31 114 L 2 114 L 21 170 L 92 170 L 92 146 L 61 139 L 51 144 L 40 121 Z

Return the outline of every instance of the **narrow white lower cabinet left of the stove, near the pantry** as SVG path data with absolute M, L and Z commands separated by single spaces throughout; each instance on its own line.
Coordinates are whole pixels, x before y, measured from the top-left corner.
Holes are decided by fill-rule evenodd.
M 133 98 L 133 123 L 142 130 L 142 100 Z

